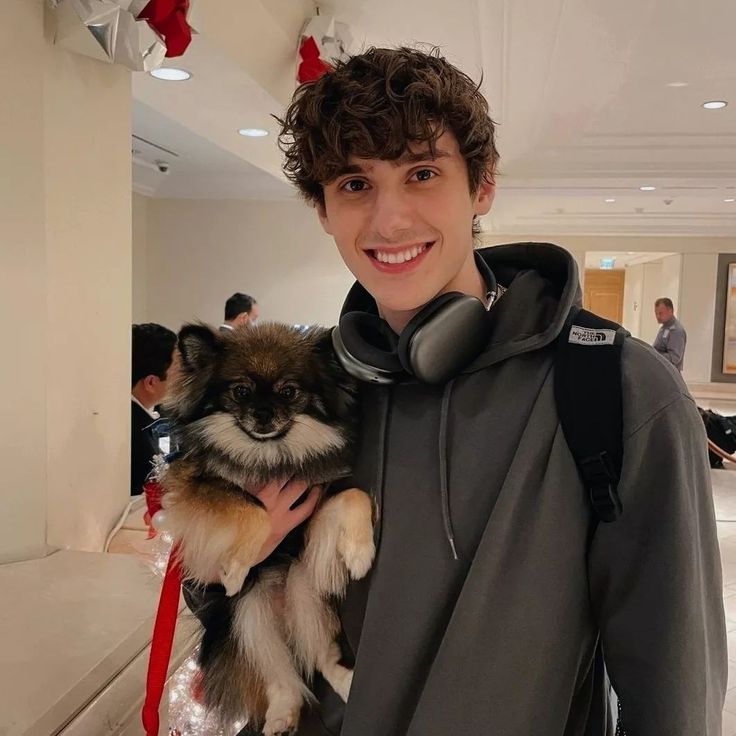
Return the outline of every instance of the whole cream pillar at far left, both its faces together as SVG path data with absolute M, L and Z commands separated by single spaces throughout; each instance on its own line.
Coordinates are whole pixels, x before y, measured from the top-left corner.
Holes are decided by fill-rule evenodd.
M 0 24 L 0 562 L 101 549 L 129 494 L 130 75 L 45 5 Z

